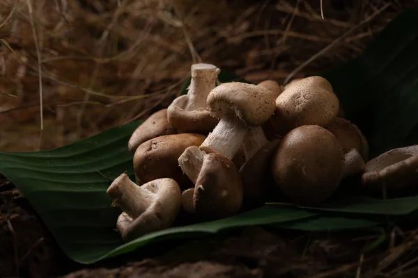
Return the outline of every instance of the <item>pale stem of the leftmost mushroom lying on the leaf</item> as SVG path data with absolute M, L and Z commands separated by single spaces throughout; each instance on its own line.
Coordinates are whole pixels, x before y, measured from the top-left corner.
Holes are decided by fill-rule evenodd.
M 107 188 L 107 195 L 114 199 L 112 206 L 119 206 L 130 218 L 138 218 L 153 203 L 155 194 L 137 186 L 127 174 L 121 174 Z

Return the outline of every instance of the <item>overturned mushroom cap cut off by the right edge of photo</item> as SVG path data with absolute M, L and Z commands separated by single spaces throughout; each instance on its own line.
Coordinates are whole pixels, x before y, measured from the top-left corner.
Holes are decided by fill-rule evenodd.
M 418 145 L 391 149 L 366 163 L 362 183 L 396 192 L 418 185 Z

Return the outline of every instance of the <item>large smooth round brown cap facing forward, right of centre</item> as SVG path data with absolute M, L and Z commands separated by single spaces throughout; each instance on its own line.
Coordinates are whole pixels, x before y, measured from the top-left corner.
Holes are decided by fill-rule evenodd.
M 325 201 L 339 186 L 344 170 L 343 149 L 321 126 L 299 126 L 281 140 L 272 161 L 277 186 L 299 204 Z

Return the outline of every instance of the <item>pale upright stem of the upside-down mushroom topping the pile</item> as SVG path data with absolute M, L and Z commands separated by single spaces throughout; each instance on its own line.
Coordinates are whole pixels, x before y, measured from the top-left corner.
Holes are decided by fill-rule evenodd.
M 203 63 L 192 65 L 192 81 L 187 92 L 186 111 L 206 109 L 206 99 L 209 92 L 215 88 L 219 72 L 219 68 L 215 65 Z

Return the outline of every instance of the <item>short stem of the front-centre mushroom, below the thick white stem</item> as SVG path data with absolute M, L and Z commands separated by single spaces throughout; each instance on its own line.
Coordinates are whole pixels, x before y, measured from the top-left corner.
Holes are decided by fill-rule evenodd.
M 196 179 L 201 171 L 204 155 L 205 154 L 199 147 L 191 146 L 187 147 L 185 152 L 178 158 L 178 164 L 181 166 L 183 173 L 187 174 L 187 177 L 189 177 L 193 183 L 196 183 Z

